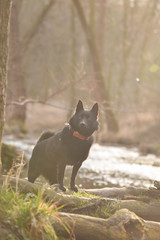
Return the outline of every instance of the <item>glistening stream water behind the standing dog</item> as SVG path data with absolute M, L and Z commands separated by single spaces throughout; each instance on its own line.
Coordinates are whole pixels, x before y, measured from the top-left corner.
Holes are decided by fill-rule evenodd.
M 36 142 L 9 136 L 3 141 L 24 151 L 28 159 Z M 69 184 L 71 170 L 70 166 L 66 168 L 65 185 Z M 160 181 L 160 158 L 154 155 L 143 156 L 136 148 L 94 144 L 77 174 L 76 184 L 83 188 L 150 187 L 154 180 Z

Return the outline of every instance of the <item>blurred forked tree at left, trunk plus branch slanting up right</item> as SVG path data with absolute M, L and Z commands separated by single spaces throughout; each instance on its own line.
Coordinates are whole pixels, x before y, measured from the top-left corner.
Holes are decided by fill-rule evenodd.
M 9 73 L 8 73 L 8 101 L 21 101 L 26 98 L 25 77 L 22 72 L 22 54 L 25 54 L 32 39 L 36 35 L 39 26 L 41 26 L 44 18 L 48 14 L 55 0 L 44 7 L 40 16 L 37 17 L 30 31 L 25 36 L 25 41 L 21 43 L 19 34 L 19 12 L 21 1 L 15 0 L 13 2 L 11 14 L 11 40 L 10 40 L 10 57 L 9 57 Z M 45 89 L 47 89 L 47 84 Z M 48 89 L 46 90 L 48 91 Z M 26 105 L 10 105 L 7 108 L 7 122 L 16 123 L 19 125 L 21 131 L 24 130 L 24 123 L 26 119 Z

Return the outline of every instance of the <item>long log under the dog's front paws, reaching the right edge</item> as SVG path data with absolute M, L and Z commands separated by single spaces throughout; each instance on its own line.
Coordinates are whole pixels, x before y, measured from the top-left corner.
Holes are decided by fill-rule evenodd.
M 7 182 L 13 189 L 19 189 L 23 193 L 34 192 L 37 194 L 41 190 L 46 200 L 63 205 L 63 210 L 70 213 L 108 218 L 117 210 L 127 208 L 145 220 L 160 221 L 160 201 L 155 199 L 143 202 L 142 200 L 77 197 L 72 195 L 71 191 L 66 194 L 58 193 L 54 189 L 32 184 L 24 179 L 9 177 Z

